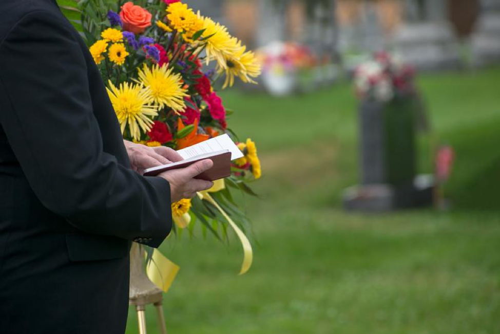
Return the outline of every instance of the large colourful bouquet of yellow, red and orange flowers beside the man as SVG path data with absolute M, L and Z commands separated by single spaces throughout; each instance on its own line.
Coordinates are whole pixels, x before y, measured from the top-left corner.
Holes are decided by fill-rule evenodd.
M 193 200 L 172 204 L 174 231 L 193 233 L 196 221 L 221 240 L 227 224 L 248 230 L 232 192 L 255 195 L 248 183 L 261 177 L 260 161 L 255 143 L 239 142 L 228 127 L 231 112 L 218 87 L 233 86 L 235 79 L 255 83 L 260 65 L 254 53 L 179 0 L 87 0 L 78 10 L 75 25 L 101 71 L 124 139 L 179 150 L 228 134 L 244 154 L 232 176 Z

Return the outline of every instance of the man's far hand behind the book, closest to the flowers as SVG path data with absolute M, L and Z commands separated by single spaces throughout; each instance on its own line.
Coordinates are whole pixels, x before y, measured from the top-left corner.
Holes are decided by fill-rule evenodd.
M 182 157 L 170 147 L 158 146 L 149 147 L 141 144 L 134 144 L 124 140 L 132 170 L 143 174 L 144 170 L 151 167 L 160 166 L 171 162 L 181 161 Z

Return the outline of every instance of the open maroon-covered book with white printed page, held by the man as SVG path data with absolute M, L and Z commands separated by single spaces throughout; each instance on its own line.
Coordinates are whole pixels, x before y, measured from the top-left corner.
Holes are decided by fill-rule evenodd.
M 235 145 L 228 135 L 218 136 L 177 152 L 184 160 L 148 168 L 144 171 L 144 175 L 156 176 L 162 172 L 185 168 L 197 161 L 210 159 L 214 162 L 214 166 L 196 178 L 215 181 L 230 176 L 231 160 L 243 157 L 238 146 Z

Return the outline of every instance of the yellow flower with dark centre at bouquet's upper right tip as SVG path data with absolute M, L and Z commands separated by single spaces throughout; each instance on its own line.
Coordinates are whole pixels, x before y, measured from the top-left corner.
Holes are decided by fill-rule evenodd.
M 252 51 L 245 52 L 242 46 L 237 53 L 225 58 L 226 68 L 219 67 L 219 73 L 225 72 L 226 80 L 222 88 L 228 85 L 233 86 L 235 77 L 239 77 L 243 82 L 256 83 L 251 78 L 260 75 L 260 64 Z

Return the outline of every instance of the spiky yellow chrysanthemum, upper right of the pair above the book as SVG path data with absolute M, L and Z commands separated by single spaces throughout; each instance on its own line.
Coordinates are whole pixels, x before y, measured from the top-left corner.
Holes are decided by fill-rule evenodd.
M 187 90 L 182 88 L 181 75 L 172 73 L 172 68 L 167 69 L 166 65 L 160 67 L 158 64 L 148 68 L 144 64 L 144 68 L 139 69 L 139 79 L 161 108 L 168 106 L 176 113 L 186 108 L 184 97 L 187 97 Z

